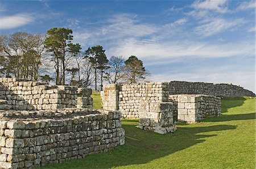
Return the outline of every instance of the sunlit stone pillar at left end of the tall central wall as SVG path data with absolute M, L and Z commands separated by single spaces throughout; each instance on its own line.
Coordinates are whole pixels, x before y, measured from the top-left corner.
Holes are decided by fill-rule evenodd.
M 101 104 L 103 109 L 110 111 L 118 111 L 119 86 L 117 84 L 103 85 L 101 91 Z

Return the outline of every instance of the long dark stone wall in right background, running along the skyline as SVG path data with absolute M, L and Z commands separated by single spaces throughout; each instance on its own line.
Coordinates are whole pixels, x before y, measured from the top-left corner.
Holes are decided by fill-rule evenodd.
M 203 94 L 203 95 L 214 95 L 214 96 L 253 96 L 255 97 L 255 94 L 253 92 L 233 84 L 171 81 L 171 82 L 168 82 L 167 88 L 170 95 Z

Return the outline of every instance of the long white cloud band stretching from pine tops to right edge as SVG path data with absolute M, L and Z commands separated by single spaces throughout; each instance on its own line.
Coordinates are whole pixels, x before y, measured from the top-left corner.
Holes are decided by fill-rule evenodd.
M 234 56 L 251 56 L 254 54 L 254 42 L 240 41 L 237 43 L 211 44 L 197 41 L 177 40 L 172 43 L 142 42 L 136 39 L 126 39 L 108 53 L 129 57 L 135 55 L 143 59 L 151 60 L 152 64 L 163 64 L 175 60 L 183 60 L 184 57 L 195 58 L 221 58 Z

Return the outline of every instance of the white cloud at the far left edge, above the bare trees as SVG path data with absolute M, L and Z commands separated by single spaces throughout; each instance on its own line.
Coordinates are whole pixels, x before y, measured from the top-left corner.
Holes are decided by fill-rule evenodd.
M 13 16 L 0 16 L 0 29 L 12 29 L 31 23 L 34 18 L 28 14 L 16 14 Z

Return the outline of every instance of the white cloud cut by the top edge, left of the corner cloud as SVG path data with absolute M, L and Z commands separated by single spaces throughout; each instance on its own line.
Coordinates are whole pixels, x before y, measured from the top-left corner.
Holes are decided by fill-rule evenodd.
M 220 13 L 228 12 L 226 7 L 227 0 L 206 0 L 206 1 L 195 1 L 191 6 L 197 10 L 212 10 Z

